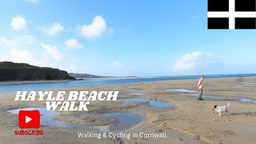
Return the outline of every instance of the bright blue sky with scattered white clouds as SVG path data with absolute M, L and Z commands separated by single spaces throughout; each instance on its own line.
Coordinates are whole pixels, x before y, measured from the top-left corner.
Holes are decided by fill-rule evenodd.
M 207 30 L 202 0 L 0 0 L 0 62 L 111 76 L 256 71 L 255 30 Z

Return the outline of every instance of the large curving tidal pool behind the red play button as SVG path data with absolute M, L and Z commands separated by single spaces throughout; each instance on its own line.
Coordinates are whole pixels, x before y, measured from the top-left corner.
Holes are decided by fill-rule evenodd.
M 70 128 L 74 130 L 97 130 L 103 132 L 118 131 L 118 130 L 127 130 L 130 129 L 139 123 L 144 121 L 144 117 L 140 114 L 133 113 L 106 113 L 102 114 L 105 116 L 110 116 L 118 119 L 118 123 L 110 126 L 82 126 L 72 122 L 60 122 L 55 121 L 53 118 L 60 113 L 58 111 L 46 110 L 42 107 L 30 107 L 18 110 L 8 110 L 8 113 L 18 114 L 19 110 L 39 110 L 40 112 L 40 125 L 41 126 L 56 126 L 63 128 Z

